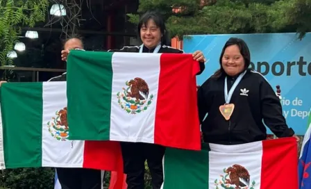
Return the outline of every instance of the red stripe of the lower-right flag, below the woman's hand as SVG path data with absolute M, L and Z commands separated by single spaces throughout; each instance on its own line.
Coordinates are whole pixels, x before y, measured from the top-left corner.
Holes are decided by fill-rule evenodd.
M 261 169 L 260 188 L 298 189 L 298 147 L 296 139 L 292 137 L 262 141 Z

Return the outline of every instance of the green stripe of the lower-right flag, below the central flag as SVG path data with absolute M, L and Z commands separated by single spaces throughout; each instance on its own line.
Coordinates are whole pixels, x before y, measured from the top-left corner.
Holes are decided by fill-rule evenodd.
M 208 189 L 208 144 L 202 144 L 202 147 L 201 151 L 166 149 L 164 158 L 164 189 Z M 180 176 L 180 174 L 183 174 L 183 176 Z

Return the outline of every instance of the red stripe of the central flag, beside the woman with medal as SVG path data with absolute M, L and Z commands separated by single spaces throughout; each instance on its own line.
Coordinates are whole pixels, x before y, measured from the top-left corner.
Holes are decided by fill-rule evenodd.
M 199 63 L 191 54 L 162 54 L 155 113 L 155 144 L 201 149 L 196 101 Z

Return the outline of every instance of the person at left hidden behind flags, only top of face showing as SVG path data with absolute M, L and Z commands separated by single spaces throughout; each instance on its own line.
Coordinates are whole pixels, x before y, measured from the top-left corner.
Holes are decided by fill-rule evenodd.
M 83 42 L 78 36 L 65 41 L 63 51 L 69 51 L 70 49 L 83 49 Z M 49 81 L 67 81 L 66 76 L 65 72 L 60 76 L 51 78 Z M 101 189 L 101 170 L 58 167 L 56 172 L 62 189 Z

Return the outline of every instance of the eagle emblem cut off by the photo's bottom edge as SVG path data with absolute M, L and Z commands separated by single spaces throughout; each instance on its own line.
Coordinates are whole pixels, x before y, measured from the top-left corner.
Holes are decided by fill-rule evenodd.
M 255 181 L 249 184 L 251 175 L 242 165 L 232 165 L 224 169 L 225 175 L 220 175 L 221 179 L 215 180 L 215 186 L 217 189 L 254 189 Z M 219 188 L 221 187 L 221 188 Z

